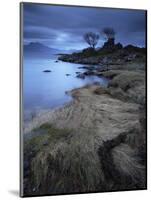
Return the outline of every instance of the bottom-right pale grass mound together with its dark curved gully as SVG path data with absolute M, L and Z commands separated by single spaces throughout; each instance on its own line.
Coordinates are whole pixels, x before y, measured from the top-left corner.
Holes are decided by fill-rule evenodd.
M 126 137 L 127 135 L 121 134 L 113 140 L 104 142 L 98 150 L 106 179 L 106 191 L 146 187 L 145 166 L 140 163 L 137 149 L 125 143 Z

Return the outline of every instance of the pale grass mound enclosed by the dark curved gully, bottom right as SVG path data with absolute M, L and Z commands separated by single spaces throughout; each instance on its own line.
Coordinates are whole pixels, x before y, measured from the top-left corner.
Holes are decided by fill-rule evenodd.
M 145 167 L 129 145 L 121 144 L 112 150 L 113 163 L 119 175 L 116 189 L 141 189 L 145 187 Z M 119 181 L 119 180 L 118 180 Z

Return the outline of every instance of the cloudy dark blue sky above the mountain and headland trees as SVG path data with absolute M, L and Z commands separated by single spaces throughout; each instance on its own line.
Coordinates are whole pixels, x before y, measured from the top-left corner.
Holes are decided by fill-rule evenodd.
M 146 13 L 143 10 L 52 6 L 25 3 L 24 44 L 40 42 L 60 50 L 87 48 L 83 35 L 100 34 L 97 47 L 105 42 L 104 27 L 114 28 L 115 41 L 124 46 L 145 46 Z

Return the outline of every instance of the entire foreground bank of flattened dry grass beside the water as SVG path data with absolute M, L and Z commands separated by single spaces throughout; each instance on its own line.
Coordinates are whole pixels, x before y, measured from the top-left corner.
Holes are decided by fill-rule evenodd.
M 70 104 L 24 128 L 25 138 L 32 134 L 25 140 L 28 194 L 146 187 L 145 75 L 122 70 L 102 75 L 111 78 L 108 88 L 75 89 Z

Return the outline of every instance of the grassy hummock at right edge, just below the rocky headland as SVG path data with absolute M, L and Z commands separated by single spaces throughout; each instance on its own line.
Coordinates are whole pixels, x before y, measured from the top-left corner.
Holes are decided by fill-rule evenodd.
M 124 101 L 145 104 L 145 74 L 144 71 L 117 70 L 104 73 L 104 76 L 112 77 L 109 82 L 109 93 Z

